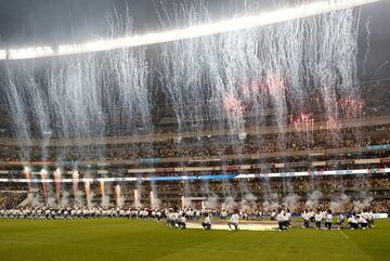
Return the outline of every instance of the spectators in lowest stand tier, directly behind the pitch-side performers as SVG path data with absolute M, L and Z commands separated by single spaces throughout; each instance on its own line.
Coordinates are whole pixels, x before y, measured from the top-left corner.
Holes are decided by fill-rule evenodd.
M 253 209 L 271 211 L 271 208 L 284 206 L 302 211 L 309 207 L 328 209 L 333 203 L 338 203 L 344 209 L 353 209 L 356 206 L 370 206 L 375 211 L 390 211 L 390 177 L 386 173 L 369 175 L 337 175 L 337 177 L 296 177 L 273 179 L 245 179 L 245 180 L 210 180 L 210 181 L 169 181 L 169 182 L 105 182 L 104 188 L 100 182 L 90 184 L 95 205 L 100 205 L 103 197 L 107 197 L 112 205 L 117 203 L 115 187 L 119 185 L 122 204 L 134 204 L 134 191 L 138 191 L 140 203 L 148 206 L 151 192 L 165 207 L 179 206 L 184 197 L 214 197 L 214 205 L 222 206 L 226 197 L 232 197 L 239 206 L 243 200 Z M 46 183 L 44 191 L 55 198 L 57 193 L 55 182 Z M 61 195 L 66 194 L 67 201 L 75 199 L 74 184 L 63 183 L 60 186 Z M 30 191 L 42 198 L 43 185 L 40 183 L 1 183 L 0 207 L 9 208 L 17 206 Z M 77 191 L 83 196 L 84 186 L 78 184 Z M 104 195 L 102 194 L 104 192 Z M 248 197 L 248 195 L 250 195 Z M 77 195 L 76 195 L 77 197 Z M 64 200 L 61 196 L 61 204 Z M 83 199 L 86 201 L 86 199 Z M 264 203 L 268 201 L 266 208 Z M 310 201 L 310 204 L 309 204 Z M 270 207 L 273 206 L 273 207 Z M 286 207 L 286 206 L 285 206 Z

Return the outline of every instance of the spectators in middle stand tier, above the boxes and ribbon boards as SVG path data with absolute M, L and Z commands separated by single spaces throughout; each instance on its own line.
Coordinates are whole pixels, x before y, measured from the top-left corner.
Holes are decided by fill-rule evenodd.
M 89 146 L 32 147 L 28 153 L 31 161 L 80 161 L 80 160 L 134 160 L 140 158 L 208 158 L 222 155 L 250 155 L 288 153 L 300 151 L 323 151 L 327 148 L 367 147 L 390 144 L 390 125 L 369 126 L 359 129 L 341 129 L 337 133 L 317 130 L 302 136 L 300 132 L 280 134 L 248 135 L 233 139 L 230 135 L 212 138 L 188 138 L 165 140 L 150 143 L 123 143 Z M 24 148 L 25 149 L 25 148 Z M 4 147 L 0 152 L 3 161 L 17 161 L 23 153 L 18 147 Z M 43 155 L 44 154 L 44 155 Z M 47 155 L 47 156 L 46 156 Z

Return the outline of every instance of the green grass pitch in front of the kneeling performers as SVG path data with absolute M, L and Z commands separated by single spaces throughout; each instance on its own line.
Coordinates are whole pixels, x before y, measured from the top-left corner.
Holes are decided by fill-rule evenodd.
M 0 220 L 0 260 L 390 260 L 390 220 L 366 231 L 174 230 L 133 220 Z

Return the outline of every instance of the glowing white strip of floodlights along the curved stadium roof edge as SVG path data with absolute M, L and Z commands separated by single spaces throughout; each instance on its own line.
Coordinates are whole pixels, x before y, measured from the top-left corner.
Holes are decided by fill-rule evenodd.
M 115 49 L 141 47 L 147 44 L 178 41 L 204 36 L 224 34 L 229 31 L 248 29 L 298 18 L 310 17 L 323 13 L 355 8 L 381 0 L 327 0 L 300 4 L 295 8 L 281 9 L 258 15 L 243 16 L 205 25 L 191 26 L 162 32 L 151 32 L 142 36 L 127 36 L 116 39 L 90 41 L 81 44 L 62 44 L 57 49 L 27 48 L 0 51 L 0 60 L 23 60 L 48 56 L 70 55 L 90 52 L 109 51 Z

